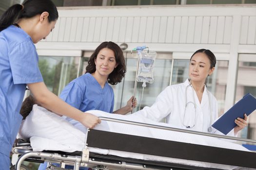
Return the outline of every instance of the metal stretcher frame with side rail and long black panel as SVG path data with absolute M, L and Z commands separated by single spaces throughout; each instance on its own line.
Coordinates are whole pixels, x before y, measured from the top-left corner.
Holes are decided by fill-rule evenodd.
M 177 128 L 170 128 L 165 126 L 139 123 L 120 119 L 111 119 L 105 117 L 99 118 L 101 120 L 106 121 L 114 121 L 119 123 L 127 123 L 164 130 L 172 130 L 183 133 L 185 132 L 190 134 L 214 136 L 256 143 L 256 141 L 252 139 L 222 136 L 209 133 L 201 133 L 196 131 L 186 131 Z M 102 140 L 102 138 L 104 140 Z M 21 145 L 18 144 L 16 147 L 13 148 L 13 153 L 20 154 L 20 157 L 15 166 L 15 170 L 20 170 L 21 163 L 24 160 L 40 163 L 43 163 L 44 161 L 50 163 L 59 163 L 61 164 L 62 168 L 64 168 L 65 165 L 73 165 L 74 170 L 79 170 L 79 167 L 90 167 L 96 168 L 97 170 L 175 170 L 176 168 L 177 170 L 217 170 L 212 168 L 193 167 L 174 163 L 152 162 L 132 158 L 122 158 L 113 155 L 100 155 L 96 153 L 90 153 L 88 147 L 110 149 L 131 153 L 150 154 L 256 169 L 256 161 L 253 161 L 256 160 L 256 153 L 254 152 L 245 152 L 232 149 L 203 146 L 191 143 L 176 142 L 150 137 L 133 136 L 114 132 L 88 129 L 86 146 L 82 152 L 33 152 L 31 150 L 32 148 L 29 146 L 28 143 Z

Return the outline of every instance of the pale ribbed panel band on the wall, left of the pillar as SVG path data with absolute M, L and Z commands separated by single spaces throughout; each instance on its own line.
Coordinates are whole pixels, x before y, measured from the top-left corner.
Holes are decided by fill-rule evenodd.
M 60 17 L 47 41 L 229 44 L 231 22 L 217 16 Z

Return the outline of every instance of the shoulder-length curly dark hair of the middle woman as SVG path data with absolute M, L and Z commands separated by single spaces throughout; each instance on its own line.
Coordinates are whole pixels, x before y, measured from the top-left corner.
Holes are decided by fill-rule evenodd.
M 101 49 L 108 48 L 112 50 L 115 54 L 116 62 L 118 64 L 117 68 L 115 68 L 108 76 L 108 83 L 111 85 L 117 85 L 118 82 L 122 81 L 122 78 L 124 77 L 126 73 L 126 66 L 125 66 L 125 60 L 123 56 L 123 51 L 120 49 L 120 47 L 111 41 L 103 42 L 101 43 L 97 49 L 93 52 L 91 55 L 88 66 L 86 67 L 85 73 L 94 73 L 96 71 L 96 65 L 95 65 L 95 59 L 97 58 L 97 55 Z

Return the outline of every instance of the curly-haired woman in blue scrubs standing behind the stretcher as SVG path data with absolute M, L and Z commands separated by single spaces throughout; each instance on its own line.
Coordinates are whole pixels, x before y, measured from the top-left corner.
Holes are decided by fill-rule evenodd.
M 136 107 L 137 101 L 133 97 L 127 105 L 113 112 L 114 91 L 109 85 L 121 82 L 126 72 L 125 59 L 120 47 L 109 41 L 101 43 L 91 55 L 86 73 L 71 81 L 61 92 L 60 98 L 70 105 L 86 112 L 88 110 L 101 110 L 108 113 L 126 114 Z M 67 117 L 73 125 L 77 121 Z M 59 166 L 59 164 L 54 164 Z M 45 170 L 47 163 L 41 164 L 39 170 Z M 73 169 L 72 166 L 66 166 Z M 87 170 L 81 167 L 80 170 Z

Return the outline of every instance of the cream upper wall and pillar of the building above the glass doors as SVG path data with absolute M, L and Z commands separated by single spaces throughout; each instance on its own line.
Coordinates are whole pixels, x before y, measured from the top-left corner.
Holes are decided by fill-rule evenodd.
M 239 53 L 256 53 L 256 5 L 60 7 L 38 50 L 94 50 L 102 41 L 146 45 L 188 59 L 197 49 L 229 61 L 225 109 L 235 101 Z

